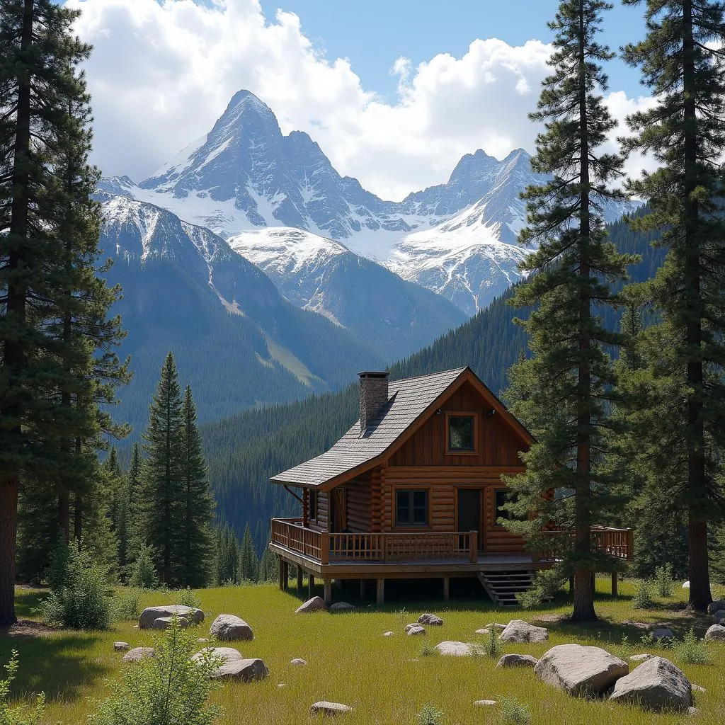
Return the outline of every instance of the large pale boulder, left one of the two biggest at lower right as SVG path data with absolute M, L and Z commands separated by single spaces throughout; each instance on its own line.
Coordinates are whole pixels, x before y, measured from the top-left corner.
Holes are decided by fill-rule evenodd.
M 534 668 L 537 677 L 575 697 L 601 695 L 629 673 L 629 665 L 600 647 L 557 645 Z

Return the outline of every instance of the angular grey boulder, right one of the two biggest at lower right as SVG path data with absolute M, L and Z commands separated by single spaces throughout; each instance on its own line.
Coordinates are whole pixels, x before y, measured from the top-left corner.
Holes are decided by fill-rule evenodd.
M 609 699 L 644 710 L 682 712 L 692 705 L 692 685 L 670 660 L 653 657 L 618 679 Z

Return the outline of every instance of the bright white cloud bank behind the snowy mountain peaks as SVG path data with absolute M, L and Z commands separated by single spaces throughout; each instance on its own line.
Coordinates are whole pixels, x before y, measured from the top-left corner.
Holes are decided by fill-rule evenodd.
M 413 67 L 399 58 L 397 99 L 363 88 L 347 59 L 328 60 L 297 15 L 265 19 L 256 0 L 68 0 L 94 43 L 94 160 L 106 175 L 150 175 L 203 136 L 247 88 L 283 133 L 306 130 L 342 174 L 386 199 L 440 183 L 460 157 L 532 150 L 527 114 L 548 72 L 550 46 L 476 40 L 463 57 Z M 637 103 L 613 94 L 619 112 Z

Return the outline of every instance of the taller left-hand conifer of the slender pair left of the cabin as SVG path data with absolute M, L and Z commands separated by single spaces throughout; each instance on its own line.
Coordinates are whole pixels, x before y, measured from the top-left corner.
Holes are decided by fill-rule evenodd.
M 154 551 L 154 566 L 162 583 L 175 585 L 174 547 L 179 526 L 179 492 L 183 489 L 181 397 L 174 356 L 161 368 L 159 386 L 149 406 L 144 431 L 146 458 L 142 468 L 146 543 Z

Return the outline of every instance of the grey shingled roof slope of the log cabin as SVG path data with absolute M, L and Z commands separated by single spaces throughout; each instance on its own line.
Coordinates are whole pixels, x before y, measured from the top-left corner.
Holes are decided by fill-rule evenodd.
M 330 450 L 278 473 L 276 484 L 322 486 L 328 481 L 384 453 L 468 368 L 390 381 L 388 405 L 360 434 L 357 421 Z

